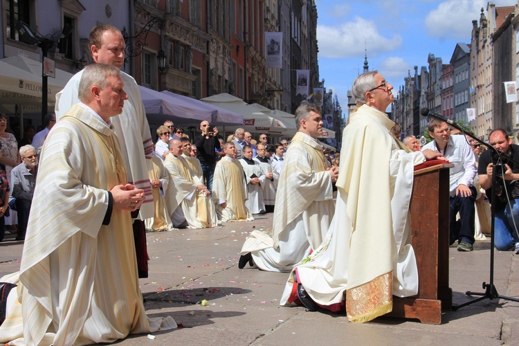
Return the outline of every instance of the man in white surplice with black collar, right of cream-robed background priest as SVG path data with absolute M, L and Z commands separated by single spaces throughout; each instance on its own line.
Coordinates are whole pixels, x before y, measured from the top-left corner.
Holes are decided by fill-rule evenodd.
M 250 145 L 244 145 L 244 157 L 239 159 L 245 172 L 247 183 L 247 200 L 245 206 L 251 214 L 264 214 L 265 203 L 263 201 L 263 188 L 266 180 L 265 173 L 260 166 L 253 160 L 253 148 Z

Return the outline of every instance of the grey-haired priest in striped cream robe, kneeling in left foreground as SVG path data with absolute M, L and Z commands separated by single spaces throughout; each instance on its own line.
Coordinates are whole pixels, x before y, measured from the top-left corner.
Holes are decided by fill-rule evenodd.
M 46 138 L 20 271 L 1 278 L 18 285 L 1 343 L 90 345 L 176 327 L 147 318 L 138 286 L 130 212 L 144 191 L 127 183 L 110 121 L 126 106 L 123 87 L 116 67 L 87 66 L 82 103 Z

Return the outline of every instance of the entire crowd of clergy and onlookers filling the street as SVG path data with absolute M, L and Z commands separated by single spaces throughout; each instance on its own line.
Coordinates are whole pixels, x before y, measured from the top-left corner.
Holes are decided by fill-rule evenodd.
M 25 239 L 20 271 L 1 278 L 17 285 L 6 294 L 1 343 L 111 343 L 175 328 L 170 317 L 145 314 L 145 231 L 215 228 L 266 212 L 272 234 L 253 230 L 239 268 L 289 273 L 282 305 L 372 320 L 392 310 L 394 295 L 417 294 L 409 204 L 415 166 L 430 160 L 453 163 L 450 243 L 473 251 L 495 194 L 495 246 L 519 253 L 519 165 L 493 160 L 438 120 L 424 147 L 412 136 L 400 142 L 385 114 L 393 87 L 377 71 L 354 82 L 357 108 L 340 156 L 318 141 L 321 109 L 311 103 L 296 109 L 291 143 L 269 144 L 266 134 L 255 141 L 242 128 L 224 142 L 207 121 L 190 140 L 167 120 L 154 145 L 137 84 L 120 71 L 120 30 L 95 26 L 89 45 L 95 64 L 57 94 L 55 113 L 29 143 L 18 149 L 0 116 L 0 235 L 17 210 L 17 239 Z M 506 131 L 489 138 L 519 160 Z

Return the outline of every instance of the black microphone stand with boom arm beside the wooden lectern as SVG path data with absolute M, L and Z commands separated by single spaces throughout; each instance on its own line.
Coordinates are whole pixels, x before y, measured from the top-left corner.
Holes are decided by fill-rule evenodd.
M 457 125 L 455 122 L 448 122 L 448 124 L 455 129 L 458 129 L 459 131 L 462 131 L 462 134 L 465 134 L 462 127 Z M 480 140 L 480 138 L 477 138 L 471 134 L 466 134 L 467 136 L 473 138 L 477 141 L 477 143 L 480 143 L 480 145 L 484 145 L 485 147 L 489 148 L 493 152 L 493 163 L 496 164 L 502 164 L 502 167 L 504 169 L 504 164 L 502 163 L 502 158 L 507 158 L 507 160 L 516 163 L 516 165 L 519 165 L 519 163 L 507 154 L 504 154 L 502 152 L 499 152 L 495 147 L 490 145 L 489 143 L 485 143 L 483 140 Z M 504 172 L 504 171 L 503 171 Z M 490 238 L 490 282 L 487 284 L 486 282 L 483 282 L 482 288 L 485 290 L 484 292 L 473 292 L 473 291 L 466 291 L 466 295 L 480 295 L 479 298 L 475 298 L 473 300 L 470 300 L 468 302 L 464 302 L 462 304 L 453 305 L 452 309 L 454 311 L 457 311 L 457 309 L 466 307 L 467 305 L 474 304 L 475 302 L 479 302 L 480 300 L 484 300 L 488 298 L 489 300 L 493 299 L 504 299 L 504 300 L 511 300 L 513 302 L 519 302 L 518 298 L 512 298 L 507 297 L 506 295 L 500 295 L 498 293 L 498 290 L 495 289 L 494 285 L 494 233 L 495 233 L 495 188 L 497 186 L 498 182 L 498 175 L 497 170 L 492 170 L 492 196 L 491 196 L 491 238 Z

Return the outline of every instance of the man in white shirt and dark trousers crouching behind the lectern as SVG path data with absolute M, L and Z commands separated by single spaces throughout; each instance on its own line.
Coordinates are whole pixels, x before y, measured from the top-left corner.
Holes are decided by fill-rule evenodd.
M 474 177 L 477 172 L 471 146 L 465 136 L 451 136 L 447 123 L 432 119 L 428 126 L 429 135 L 434 139 L 423 149 L 440 152 L 454 164 L 450 168 L 450 244 L 458 241 L 457 251 L 473 251 L 475 199 Z M 459 221 L 456 215 L 459 212 Z

